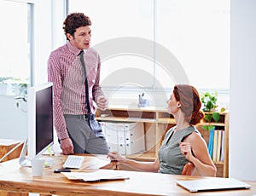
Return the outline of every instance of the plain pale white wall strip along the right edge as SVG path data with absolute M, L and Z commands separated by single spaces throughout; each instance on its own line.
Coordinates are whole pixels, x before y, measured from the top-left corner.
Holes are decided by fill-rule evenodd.
M 230 177 L 256 181 L 256 1 L 231 1 Z

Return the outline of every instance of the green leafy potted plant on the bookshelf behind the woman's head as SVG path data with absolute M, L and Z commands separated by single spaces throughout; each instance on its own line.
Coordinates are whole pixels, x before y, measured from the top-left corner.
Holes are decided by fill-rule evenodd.
M 204 130 L 213 130 L 215 128 L 214 125 L 210 125 L 212 119 L 215 122 L 218 122 L 220 118 L 219 112 L 216 110 L 218 107 L 217 105 L 218 94 L 215 93 L 211 94 L 210 92 L 205 92 L 201 94 L 201 102 L 203 104 L 202 110 L 205 112 L 204 120 L 209 123 L 209 125 L 204 125 L 202 128 Z M 220 112 L 224 112 L 224 108 L 221 108 Z

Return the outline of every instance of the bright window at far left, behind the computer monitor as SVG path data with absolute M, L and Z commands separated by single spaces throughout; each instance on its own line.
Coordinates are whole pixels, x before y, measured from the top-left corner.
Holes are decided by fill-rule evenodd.
M 0 94 L 25 94 L 32 81 L 32 4 L 0 0 L 0 18 Z

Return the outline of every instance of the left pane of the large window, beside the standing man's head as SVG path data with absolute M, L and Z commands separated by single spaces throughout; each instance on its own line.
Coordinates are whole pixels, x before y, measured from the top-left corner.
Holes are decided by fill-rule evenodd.
M 90 16 L 92 46 L 96 47 L 102 58 L 103 85 L 113 87 L 113 85 L 117 86 L 118 82 L 126 83 L 127 78 L 119 75 L 123 72 L 122 70 L 125 70 L 125 75 L 128 77 L 130 76 L 127 72 L 132 74 L 135 70 L 138 72 L 145 70 L 153 75 L 153 59 L 148 59 L 147 56 L 137 51 L 142 46 L 140 45 L 141 39 L 151 42 L 154 39 L 153 5 L 153 1 L 148 0 L 113 0 L 111 3 L 88 0 L 69 1 L 70 13 L 83 12 Z M 148 48 L 148 53 L 152 55 L 153 47 L 152 44 Z M 132 72 L 130 72 L 130 68 Z M 137 79 L 138 77 L 135 74 L 133 78 Z M 131 78 L 130 81 L 130 84 L 127 85 L 135 84 Z M 152 77 L 149 81 L 144 81 L 143 85 L 151 87 L 153 82 Z

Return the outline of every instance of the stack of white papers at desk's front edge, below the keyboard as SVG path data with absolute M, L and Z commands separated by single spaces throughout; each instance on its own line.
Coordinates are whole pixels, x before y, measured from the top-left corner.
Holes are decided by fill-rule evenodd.
M 124 176 L 116 170 L 91 170 L 88 172 L 61 172 L 69 180 L 79 180 L 83 182 L 102 182 L 127 180 L 129 176 Z

